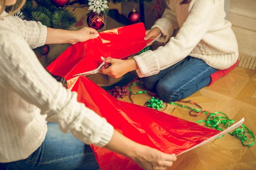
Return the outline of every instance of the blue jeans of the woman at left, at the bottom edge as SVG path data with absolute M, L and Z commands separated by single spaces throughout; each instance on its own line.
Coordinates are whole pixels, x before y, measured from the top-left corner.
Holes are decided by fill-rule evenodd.
M 89 145 L 71 133 L 62 133 L 58 123 L 47 123 L 41 146 L 27 159 L 0 163 L 0 170 L 99 170 Z

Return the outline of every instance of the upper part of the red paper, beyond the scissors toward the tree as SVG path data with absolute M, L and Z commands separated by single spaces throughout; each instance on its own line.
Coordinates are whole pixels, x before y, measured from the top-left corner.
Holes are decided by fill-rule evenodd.
M 47 70 L 68 80 L 75 74 L 97 68 L 102 63 L 101 56 L 122 59 L 138 53 L 153 41 L 145 41 L 144 37 L 143 23 L 99 32 L 96 39 L 71 45 Z

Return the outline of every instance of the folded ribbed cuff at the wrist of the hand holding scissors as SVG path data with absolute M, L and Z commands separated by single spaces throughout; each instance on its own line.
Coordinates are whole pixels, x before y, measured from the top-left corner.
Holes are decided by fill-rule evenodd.
M 139 67 L 136 70 L 139 77 L 147 77 L 159 73 L 159 64 L 153 51 L 149 50 L 139 56 L 135 56 L 134 59 Z

